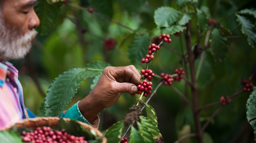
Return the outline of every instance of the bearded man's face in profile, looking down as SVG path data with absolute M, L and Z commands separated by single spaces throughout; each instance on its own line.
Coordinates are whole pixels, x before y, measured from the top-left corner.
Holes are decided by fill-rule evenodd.
M 2 1 L 2 0 L 1 0 Z M 32 47 L 39 19 L 36 0 L 4 0 L 0 9 L 0 61 L 24 57 Z

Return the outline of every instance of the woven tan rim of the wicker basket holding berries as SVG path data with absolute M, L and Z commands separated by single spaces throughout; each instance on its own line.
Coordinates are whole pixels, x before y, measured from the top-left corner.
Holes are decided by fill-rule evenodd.
M 62 118 L 62 119 L 64 119 L 65 121 L 71 120 L 68 118 Z M 17 122 L 15 124 L 15 126 L 17 126 L 17 128 L 20 128 L 20 127 L 33 128 L 33 127 L 42 127 L 45 125 L 56 126 L 58 124 L 59 120 L 60 120 L 60 118 L 58 118 L 58 117 L 36 117 L 36 118 L 31 118 L 31 119 L 23 119 L 22 121 Z M 96 132 L 97 136 L 99 136 L 99 137 L 103 136 L 102 133 L 99 130 L 97 130 L 96 128 L 94 128 L 84 122 L 81 122 L 81 121 L 77 121 L 77 123 L 79 123 L 82 126 L 82 128 L 84 128 L 84 129 L 94 130 Z M 9 129 L 11 129 L 11 127 Z M 102 138 L 102 143 L 107 143 L 106 137 Z

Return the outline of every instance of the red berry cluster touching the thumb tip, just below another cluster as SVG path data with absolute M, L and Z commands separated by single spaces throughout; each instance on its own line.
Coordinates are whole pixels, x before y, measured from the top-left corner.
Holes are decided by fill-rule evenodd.
M 151 94 L 152 88 L 152 82 L 148 82 L 147 80 L 143 80 L 140 82 L 140 84 L 137 86 L 138 91 L 137 94 L 142 94 L 142 91 L 144 91 L 143 96 L 148 97 L 149 94 Z

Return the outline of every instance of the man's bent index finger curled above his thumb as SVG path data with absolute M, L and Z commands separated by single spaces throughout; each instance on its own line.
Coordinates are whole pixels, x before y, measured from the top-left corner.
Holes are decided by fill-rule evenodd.
M 128 78 L 131 78 L 130 81 L 132 83 L 140 83 L 141 75 L 133 65 L 125 67 L 115 67 L 113 71 L 114 73 L 112 74 L 112 76 L 114 76 L 115 78 L 118 78 L 118 76 L 126 76 Z

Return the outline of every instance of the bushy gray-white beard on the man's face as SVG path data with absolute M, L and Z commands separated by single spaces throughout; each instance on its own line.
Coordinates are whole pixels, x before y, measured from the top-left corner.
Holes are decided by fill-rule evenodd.
M 19 27 L 8 29 L 0 11 L 0 61 L 23 58 L 30 51 L 36 35 L 34 29 L 24 36 L 20 35 Z

